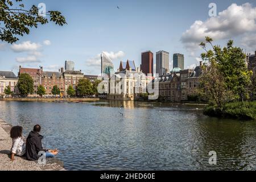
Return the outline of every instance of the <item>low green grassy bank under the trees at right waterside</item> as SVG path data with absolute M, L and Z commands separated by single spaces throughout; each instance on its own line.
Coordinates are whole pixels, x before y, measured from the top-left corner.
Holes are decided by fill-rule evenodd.
M 232 102 L 222 108 L 207 106 L 204 114 L 210 117 L 256 120 L 256 101 Z

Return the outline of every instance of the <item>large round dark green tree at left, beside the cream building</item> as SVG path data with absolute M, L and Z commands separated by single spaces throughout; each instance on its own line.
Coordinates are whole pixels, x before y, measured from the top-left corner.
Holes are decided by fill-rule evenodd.
M 34 93 L 34 80 L 27 73 L 22 73 L 19 75 L 19 80 L 17 83 L 19 93 L 22 96 L 27 96 L 28 94 Z

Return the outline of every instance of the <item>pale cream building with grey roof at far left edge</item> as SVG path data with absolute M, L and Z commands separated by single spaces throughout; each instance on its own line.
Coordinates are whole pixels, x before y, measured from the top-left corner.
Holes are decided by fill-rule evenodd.
M 9 71 L 0 71 L 0 95 L 5 95 L 5 88 L 10 86 L 11 92 L 18 94 L 19 90 L 16 87 L 18 77 Z

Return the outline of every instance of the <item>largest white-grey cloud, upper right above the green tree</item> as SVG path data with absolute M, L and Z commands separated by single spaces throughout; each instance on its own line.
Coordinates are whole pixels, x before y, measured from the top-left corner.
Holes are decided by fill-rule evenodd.
M 250 3 L 241 6 L 232 4 L 220 12 L 217 17 L 211 17 L 205 22 L 196 20 L 195 23 L 181 36 L 181 42 L 195 55 L 199 43 L 205 36 L 214 40 L 230 39 L 256 30 L 256 7 Z

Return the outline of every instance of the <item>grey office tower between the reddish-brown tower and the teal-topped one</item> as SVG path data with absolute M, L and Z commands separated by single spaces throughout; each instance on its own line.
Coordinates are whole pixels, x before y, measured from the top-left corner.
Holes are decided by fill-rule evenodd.
M 169 68 L 169 52 L 156 52 L 156 74 L 159 76 L 166 75 L 170 72 Z

